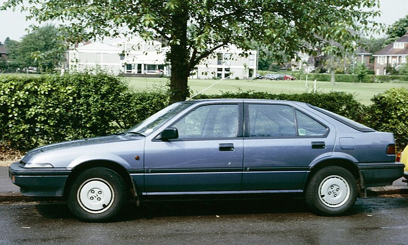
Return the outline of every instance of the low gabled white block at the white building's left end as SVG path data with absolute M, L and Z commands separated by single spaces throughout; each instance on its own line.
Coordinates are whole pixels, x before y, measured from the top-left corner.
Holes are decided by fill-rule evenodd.
M 122 69 L 120 64 L 119 48 L 94 42 L 70 49 L 67 52 L 68 70 L 104 70 L 112 74 L 119 74 Z

